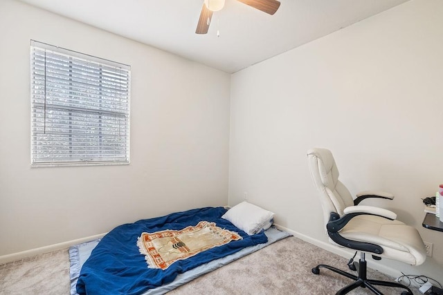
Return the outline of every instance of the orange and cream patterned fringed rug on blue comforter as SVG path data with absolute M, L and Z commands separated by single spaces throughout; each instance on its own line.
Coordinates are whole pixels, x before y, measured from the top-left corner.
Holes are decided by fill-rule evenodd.
M 167 269 L 177 260 L 183 260 L 232 240 L 242 240 L 234 231 L 221 229 L 215 222 L 201 221 L 196 226 L 181 230 L 143 233 L 138 237 L 140 253 L 145 255 L 147 267 Z

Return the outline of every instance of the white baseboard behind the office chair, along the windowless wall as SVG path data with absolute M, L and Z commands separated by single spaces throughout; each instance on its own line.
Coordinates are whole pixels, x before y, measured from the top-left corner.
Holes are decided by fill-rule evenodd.
M 306 236 L 305 234 L 300 234 L 297 231 L 293 231 L 291 229 L 287 229 L 286 227 L 282 227 L 281 225 L 276 225 L 276 224 L 274 224 L 274 225 L 278 229 L 281 229 L 282 231 L 287 231 L 287 232 L 289 232 L 289 234 L 292 234 L 293 236 L 295 236 L 296 238 L 299 238 L 300 240 L 304 240 L 305 242 L 309 242 L 309 244 L 316 245 L 317 247 L 325 249 L 329 252 L 332 252 L 332 253 L 342 256 L 344 258 L 350 259 L 355 253 L 354 250 L 338 247 L 338 246 L 330 244 L 329 242 L 324 242 L 323 240 L 316 240 L 314 238 Z M 357 257 L 359 257 L 359 256 L 357 256 Z M 381 263 L 378 263 L 375 260 L 368 259 L 366 261 L 368 263 L 368 267 L 375 269 L 378 272 L 381 272 L 382 274 L 386 274 L 386 275 L 392 276 L 394 278 L 401 276 L 401 273 L 397 269 L 394 269 L 394 268 L 389 267 L 387 265 L 382 265 Z M 325 264 L 327 264 L 327 261 L 325 261 Z

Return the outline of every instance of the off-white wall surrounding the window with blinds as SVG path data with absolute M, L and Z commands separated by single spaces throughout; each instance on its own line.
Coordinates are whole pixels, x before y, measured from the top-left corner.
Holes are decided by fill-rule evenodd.
M 30 169 L 30 39 L 132 66 L 131 164 Z M 0 256 L 228 198 L 230 75 L 0 1 Z

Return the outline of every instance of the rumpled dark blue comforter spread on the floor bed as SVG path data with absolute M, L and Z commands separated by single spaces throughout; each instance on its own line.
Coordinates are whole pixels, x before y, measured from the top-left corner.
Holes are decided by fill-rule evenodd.
M 223 207 L 192 209 L 168 216 L 138 220 L 120 225 L 104 236 L 84 263 L 77 283 L 78 294 L 142 294 L 148 289 L 170 283 L 183 272 L 211 260 L 233 254 L 245 247 L 267 242 L 266 235 L 248 236 L 228 220 L 221 218 Z M 150 269 L 137 247 L 143 231 L 179 230 L 200 221 L 215 222 L 218 227 L 236 231 L 242 240 L 203 251 L 185 260 L 178 260 L 168 269 Z

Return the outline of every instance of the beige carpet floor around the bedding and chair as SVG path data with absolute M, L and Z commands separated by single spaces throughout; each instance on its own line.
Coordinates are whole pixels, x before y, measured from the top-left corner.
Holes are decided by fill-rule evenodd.
M 335 294 L 350 283 L 327 269 L 320 275 L 311 268 L 325 263 L 343 270 L 347 259 L 331 254 L 298 238 L 285 238 L 229 265 L 216 269 L 169 294 Z M 368 271 L 377 280 L 392 280 Z M 379 287 L 383 294 L 401 294 L 400 289 Z M 413 289 L 414 294 L 420 294 Z M 0 294 L 69 294 L 68 250 L 0 265 Z M 350 294 L 372 294 L 359 288 Z

